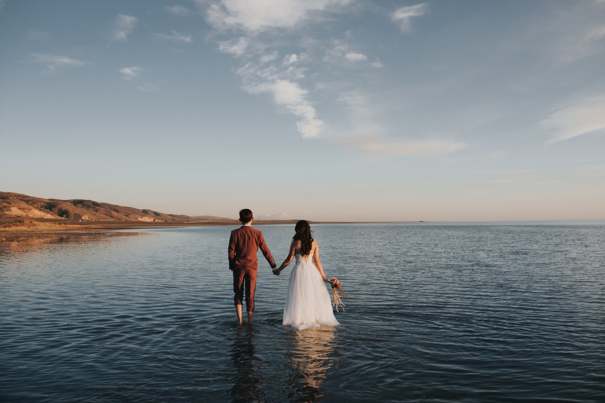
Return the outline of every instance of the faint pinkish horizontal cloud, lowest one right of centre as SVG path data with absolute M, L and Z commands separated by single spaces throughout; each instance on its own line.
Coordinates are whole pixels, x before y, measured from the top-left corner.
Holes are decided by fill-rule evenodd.
M 402 140 L 374 134 L 371 127 L 363 127 L 358 134 L 341 137 L 345 146 L 365 151 L 370 160 L 384 160 L 395 156 L 433 156 L 461 150 L 463 143 L 441 140 Z

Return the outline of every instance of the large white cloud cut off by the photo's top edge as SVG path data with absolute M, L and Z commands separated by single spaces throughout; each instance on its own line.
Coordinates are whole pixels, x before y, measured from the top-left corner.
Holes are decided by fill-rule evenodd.
M 241 28 L 260 31 L 267 28 L 290 28 L 307 18 L 309 11 L 322 11 L 348 0 L 220 0 L 206 8 L 206 16 L 216 28 Z

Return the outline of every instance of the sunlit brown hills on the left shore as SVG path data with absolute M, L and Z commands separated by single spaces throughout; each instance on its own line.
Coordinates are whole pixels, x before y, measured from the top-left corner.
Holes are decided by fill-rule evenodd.
M 224 219 L 211 216 L 189 217 L 165 214 L 149 209 L 124 207 L 116 204 L 100 203 L 93 200 L 41 199 L 19 193 L 0 192 L 0 218 L 46 218 L 83 221 L 146 221 L 178 222 L 195 219 Z

